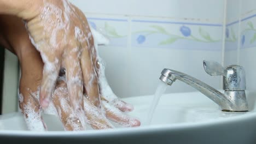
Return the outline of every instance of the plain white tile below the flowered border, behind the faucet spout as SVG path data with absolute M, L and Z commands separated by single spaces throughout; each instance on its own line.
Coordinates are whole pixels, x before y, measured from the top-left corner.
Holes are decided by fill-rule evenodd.
M 129 79 L 127 83 L 132 83 L 132 85 L 127 85 L 129 95 L 154 94 L 159 83 L 160 73 L 164 68 L 181 71 L 219 89 L 220 76 L 206 74 L 202 61 L 210 59 L 220 62 L 220 58 L 220 51 L 158 49 L 157 47 L 138 49 L 132 47 L 131 61 L 128 63 Z M 167 88 L 166 93 L 189 91 L 196 90 L 177 80 L 171 87 Z

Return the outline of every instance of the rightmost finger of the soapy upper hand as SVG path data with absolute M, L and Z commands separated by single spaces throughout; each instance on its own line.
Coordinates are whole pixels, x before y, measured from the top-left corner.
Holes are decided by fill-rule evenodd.
M 98 89 L 98 79 L 96 70 L 92 61 L 89 43 L 83 43 L 83 52 L 80 59 L 82 67 L 84 87 L 86 89 L 86 95 L 88 95 L 90 101 L 100 107 L 100 95 Z

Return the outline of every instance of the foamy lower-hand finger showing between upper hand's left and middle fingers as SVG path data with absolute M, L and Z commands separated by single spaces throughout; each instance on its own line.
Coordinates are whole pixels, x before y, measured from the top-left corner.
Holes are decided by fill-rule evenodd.
M 58 80 L 56 83 L 56 89 L 53 93 L 53 103 L 63 127 L 68 131 L 85 130 L 84 118 L 79 118 L 73 110 L 73 107 L 69 104 L 68 99 L 67 86 L 65 82 Z

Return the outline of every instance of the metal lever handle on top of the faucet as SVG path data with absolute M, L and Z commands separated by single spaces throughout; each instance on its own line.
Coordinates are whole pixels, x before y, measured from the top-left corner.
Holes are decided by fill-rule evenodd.
M 222 67 L 221 64 L 219 64 L 216 61 L 209 61 L 205 60 L 203 61 L 203 68 L 205 68 L 205 71 L 207 74 L 216 76 L 216 75 L 223 75 L 225 76 L 225 70 Z

